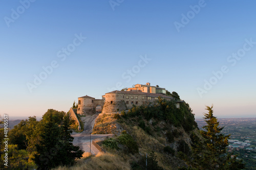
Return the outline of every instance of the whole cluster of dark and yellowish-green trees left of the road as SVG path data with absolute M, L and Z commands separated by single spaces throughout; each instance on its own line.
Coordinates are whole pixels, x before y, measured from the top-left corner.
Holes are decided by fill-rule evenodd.
M 10 161 L 12 169 L 29 168 L 35 164 L 41 169 L 73 165 L 76 158 L 82 157 L 83 151 L 72 143 L 71 122 L 67 113 L 54 109 L 48 109 L 40 121 L 35 116 L 22 120 L 9 132 L 10 154 L 13 159 L 19 157 Z

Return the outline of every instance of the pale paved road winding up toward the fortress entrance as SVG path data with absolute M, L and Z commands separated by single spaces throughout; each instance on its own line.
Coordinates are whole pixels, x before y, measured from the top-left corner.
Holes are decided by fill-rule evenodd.
M 74 137 L 73 144 L 78 145 L 81 150 L 84 152 L 90 152 L 90 133 L 92 132 L 93 126 L 95 119 L 97 118 L 98 113 L 92 115 L 92 116 L 86 116 L 86 117 L 81 117 L 84 127 L 84 130 L 80 133 L 73 132 L 72 136 Z M 92 140 L 96 138 L 101 138 L 105 136 L 109 136 L 112 134 L 108 135 L 91 135 L 91 153 L 92 154 L 97 154 L 99 152 L 98 149 L 94 147 L 92 144 Z

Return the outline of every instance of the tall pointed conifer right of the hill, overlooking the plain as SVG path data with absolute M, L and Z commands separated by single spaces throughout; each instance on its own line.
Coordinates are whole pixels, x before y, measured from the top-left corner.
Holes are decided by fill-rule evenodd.
M 206 131 L 200 131 L 205 141 L 197 136 L 191 137 L 193 141 L 193 159 L 185 158 L 190 168 L 195 169 L 243 169 L 242 160 L 231 158 L 226 153 L 230 135 L 221 133 L 224 127 L 219 127 L 218 119 L 213 115 L 213 106 L 206 106 L 204 119 L 207 125 L 203 126 Z

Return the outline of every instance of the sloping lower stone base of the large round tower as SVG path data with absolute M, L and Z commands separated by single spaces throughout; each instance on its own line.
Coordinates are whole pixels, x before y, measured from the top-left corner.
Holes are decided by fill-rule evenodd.
M 127 110 L 126 104 L 123 100 L 120 101 L 105 101 L 102 113 L 117 112 Z

